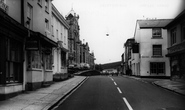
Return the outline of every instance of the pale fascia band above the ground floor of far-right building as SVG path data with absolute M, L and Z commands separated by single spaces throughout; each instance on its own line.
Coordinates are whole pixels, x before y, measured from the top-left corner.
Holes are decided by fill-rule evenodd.
M 185 41 L 168 48 L 168 54 L 185 50 Z

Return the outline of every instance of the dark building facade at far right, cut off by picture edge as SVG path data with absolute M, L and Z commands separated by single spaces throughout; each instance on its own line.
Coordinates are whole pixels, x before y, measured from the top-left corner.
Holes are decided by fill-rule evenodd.
M 185 10 L 166 27 L 171 78 L 185 80 Z

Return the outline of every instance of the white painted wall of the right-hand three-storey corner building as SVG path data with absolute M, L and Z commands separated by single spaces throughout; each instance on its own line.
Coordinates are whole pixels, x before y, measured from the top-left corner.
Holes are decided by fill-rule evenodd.
M 152 39 L 152 29 L 140 29 L 138 24 L 136 25 L 135 40 L 139 43 L 140 54 L 132 55 L 132 67 L 134 75 L 140 74 L 140 76 L 150 76 L 150 62 L 165 62 L 165 76 L 170 76 L 170 64 L 169 59 L 165 57 L 167 54 L 167 30 L 162 29 L 162 39 Z M 153 45 L 162 44 L 162 58 L 154 58 Z M 140 70 L 137 68 L 139 67 Z

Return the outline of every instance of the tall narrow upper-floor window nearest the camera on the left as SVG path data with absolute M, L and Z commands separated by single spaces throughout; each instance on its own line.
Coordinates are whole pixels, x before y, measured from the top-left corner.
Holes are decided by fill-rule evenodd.
M 26 27 L 32 29 L 33 7 L 28 3 Z

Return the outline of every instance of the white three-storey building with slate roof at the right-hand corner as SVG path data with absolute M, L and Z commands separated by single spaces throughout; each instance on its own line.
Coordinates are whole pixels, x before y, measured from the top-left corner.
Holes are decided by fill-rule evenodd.
M 131 55 L 132 75 L 170 76 L 167 54 L 167 30 L 171 20 L 137 20 Z

